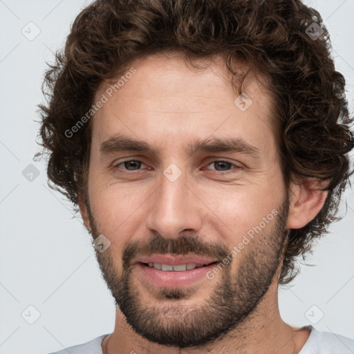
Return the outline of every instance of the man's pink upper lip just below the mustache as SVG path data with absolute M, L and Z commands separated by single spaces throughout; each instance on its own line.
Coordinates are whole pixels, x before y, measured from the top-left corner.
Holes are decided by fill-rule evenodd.
M 136 263 L 158 263 L 167 265 L 180 265 L 187 263 L 203 264 L 207 265 L 216 262 L 217 259 L 209 259 L 205 257 L 197 256 L 170 256 L 167 254 L 151 254 L 150 256 L 141 256 L 132 261 L 132 264 Z

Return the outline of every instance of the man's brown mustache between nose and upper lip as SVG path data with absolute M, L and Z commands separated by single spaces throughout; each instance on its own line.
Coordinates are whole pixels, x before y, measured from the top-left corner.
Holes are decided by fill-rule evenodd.
M 157 236 L 150 241 L 144 242 L 136 240 L 123 245 L 122 263 L 124 268 L 128 268 L 131 260 L 138 256 L 149 256 L 151 254 L 194 254 L 200 257 L 211 257 L 221 261 L 229 251 L 220 241 L 208 244 L 200 236 L 183 235 L 178 239 L 164 239 Z

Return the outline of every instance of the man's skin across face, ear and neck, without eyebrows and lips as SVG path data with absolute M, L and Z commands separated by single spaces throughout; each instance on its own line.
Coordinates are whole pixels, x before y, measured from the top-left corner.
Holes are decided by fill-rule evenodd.
M 250 74 L 243 92 L 252 105 L 241 111 L 218 57 L 198 71 L 165 55 L 131 66 L 136 74 L 113 91 L 91 122 L 88 198 L 80 196 L 93 238 L 104 234 L 111 242 L 102 254 L 96 251 L 118 304 L 104 353 L 299 353 L 310 333 L 280 317 L 281 250 L 287 230 L 312 220 L 326 192 L 312 190 L 315 180 L 299 180 L 287 193 L 271 94 Z M 109 86 L 102 83 L 97 100 Z M 100 153 L 102 142 L 120 134 L 148 142 L 155 153 Z M 194 140 L 211 138 L 241 138 L 259 153 L 185 150 Z M 129 167 L 122 163 L 127 160 L 142 164 Z M 163 174 L 171 163 L 181 171 L 174 182 Z M 219 259 L 272 210 L 277 217 L 214 279 L 203 277 L 183 289 L 156 288 L 131 265 L 133 257 L 165 253 L 171 245 L 176 254 L 208 252 Z

